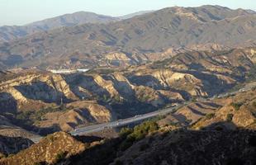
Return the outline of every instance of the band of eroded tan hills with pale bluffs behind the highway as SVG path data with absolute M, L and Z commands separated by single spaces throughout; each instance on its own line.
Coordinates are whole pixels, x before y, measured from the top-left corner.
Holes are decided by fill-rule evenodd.
M 38 134 L 70 131 L 227 92 L 255 80 L 255 61 L 255 49 L 247 48 L 186 52 L 123 70 L 94 68 L 71 74 L 10 70 L 0 78 L 1 115 L 14 127 Z M 223 103 L 199 102 L 174 115 L 187 125 L 220 106 Z

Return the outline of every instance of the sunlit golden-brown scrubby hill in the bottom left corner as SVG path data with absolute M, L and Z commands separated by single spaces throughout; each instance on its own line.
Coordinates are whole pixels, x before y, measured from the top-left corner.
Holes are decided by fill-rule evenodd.
M 22 150 L 8 158 L 2 158 L 0 164 L 36 164 L 58 163 L 62 158 L 78 154 L 85 149 L 85 144 L 74 139 L 69 134 L 59 132 L 50 134 L 38 144 Z

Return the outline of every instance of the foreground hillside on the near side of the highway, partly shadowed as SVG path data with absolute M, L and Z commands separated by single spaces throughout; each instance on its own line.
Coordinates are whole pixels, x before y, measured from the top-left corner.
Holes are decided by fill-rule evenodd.
M 0 163 L 254 164 L 255 94 L 254 89 L 207 102 L 195 101 L 174 114 L 121 129 L 119 137 L 114 139 L 50 134 L 39 144 L 3 158 Z M 191 111 L 192 108 L 195 110 Z M 192 118 L 189 125 L 167 120 L 171 115 L 175 118 L 177 113 L 189 120 L 193 115 L 186 115 L 189 113 L 185 111 L 204 114 Z M 53 154 L 47 156 L 47 152 Z

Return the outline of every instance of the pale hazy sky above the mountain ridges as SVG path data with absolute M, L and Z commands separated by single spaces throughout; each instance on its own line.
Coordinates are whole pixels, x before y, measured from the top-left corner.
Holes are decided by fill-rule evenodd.
M 157 10 L 164 7 L 195 7 L 206 4 L 256 10 L 256 0 L 0 0 L 0 26 L 86 11 L 109 16 Z

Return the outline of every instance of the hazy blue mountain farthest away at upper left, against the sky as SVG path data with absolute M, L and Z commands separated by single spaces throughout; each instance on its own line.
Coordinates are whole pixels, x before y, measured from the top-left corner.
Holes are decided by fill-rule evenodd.
M 56 16 L 43 21 L 36 21 L 26 26 L 2 26 L 0 27 L 0 41 L 14 40 L 36 32 L 49 31 L 61 26 L 78 26 L 85 23 L 108 23 L 118 21 L 119 18 L 98 15 L 92 12 L 74 12 Z

